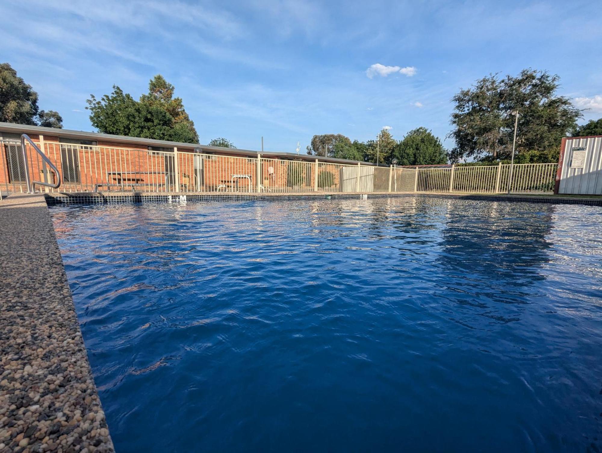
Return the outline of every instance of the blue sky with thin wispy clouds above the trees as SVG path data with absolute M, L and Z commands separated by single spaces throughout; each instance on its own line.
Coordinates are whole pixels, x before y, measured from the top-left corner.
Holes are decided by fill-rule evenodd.
M 385 126 L 444 139 L 461 87 L 525 67 L 560 75 L 591 108 L 581 122 L 602 116 L 600 1 L 3 0 L 0 17 L 0 61 L 69 129 L 93 130 L 90 93 L 138 98 L 157 73 L 201 143 L 258 149 L 264 136 L 268 151 Z

